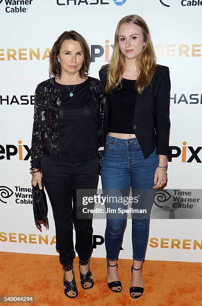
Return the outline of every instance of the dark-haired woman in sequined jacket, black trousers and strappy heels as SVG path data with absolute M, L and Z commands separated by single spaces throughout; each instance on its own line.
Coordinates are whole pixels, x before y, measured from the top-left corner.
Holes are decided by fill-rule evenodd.
M 80 282 L 93 286 L 89 269 L 92 252 L 92 219 L 76 218 L 76 189 L 96 189 L 98 148 L 102 144 L 102 89 L 87 76 L 90 64 L 85 39 L 65 31 L 50 52 L 49 74 L 35 90 L 31 142 L 31 173 L 47 190 L 55 222 L 56 249 L 64 269 L 64 293 L 77 296 L 73 272 L 73 226 L 79 257 Z

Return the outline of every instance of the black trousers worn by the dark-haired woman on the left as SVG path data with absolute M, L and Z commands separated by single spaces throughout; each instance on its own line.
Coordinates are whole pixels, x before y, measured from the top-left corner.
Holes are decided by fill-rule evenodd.
M 92 253 L 92 219 L 76 218 L 76 189 L 97 189 L 98 158 L 64 162 L 60 157 L 43 157 L 41 170 L 52 206 L 60 263 L 68 265 L 73 262 L 73 226 L 75 250 L 81 260 L 87 260 Z

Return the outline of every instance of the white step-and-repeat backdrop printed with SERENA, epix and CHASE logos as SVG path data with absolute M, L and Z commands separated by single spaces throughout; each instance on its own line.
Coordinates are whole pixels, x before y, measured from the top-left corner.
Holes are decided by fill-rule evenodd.
M 91 50 L 89 74 L 98 77 L 117 22 L 132 13 L 145 19 L 157 62 L 170 70 L 167 188 L 201 188 L 202 1 L 0 0 L 0 251 L 58 255 L 49 202 L 49 230 L 35 227 L 29 174 L 34 90 L 48 78 L 53 42 L 64 30 L 81 33 Z M 104 257 L 105 220 L 93 227 L 92 255 Z M 201 219 L 151 219 L 146 259 L 202 261 L 201 229 Z M 131 257 L 128 219 L 120 258 Z

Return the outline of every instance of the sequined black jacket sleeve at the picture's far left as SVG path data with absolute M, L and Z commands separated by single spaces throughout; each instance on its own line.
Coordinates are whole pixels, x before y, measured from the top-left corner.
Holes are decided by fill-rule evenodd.
M 31 139 L 31 168 L 39 168 L 42 158 L 42 121 L 44 118 L 44 111 L 42 110 L 42 98 L 40 86 L 37 85 L 34 95 L 34 115 L 33 115 L 33 129 Z

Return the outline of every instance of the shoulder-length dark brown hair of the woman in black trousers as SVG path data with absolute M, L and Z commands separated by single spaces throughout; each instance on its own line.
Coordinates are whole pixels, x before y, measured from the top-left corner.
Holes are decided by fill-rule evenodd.
M 83 36 L 81 36 L 79 33 L 73 30 L 63 32 L 54 42 L 53 47 L 50 51 L 49 76 L 51 77 L 52 75 L 54 76 L 57 75 L 59 78 L 61 77 L 61 65 L 58 62 L 57 57 L 59 54 L 61 44 L 66 39 L 76 40 L 80 43 L 80 46 L 84 53 L 84 60 L 82 67 L 79 70 L 79 75 L 81 78 L 83 78 L 86 75 L 88 75 L 88 70 L 90 65 L 90 51 L 87 42 L 85 41 Z

